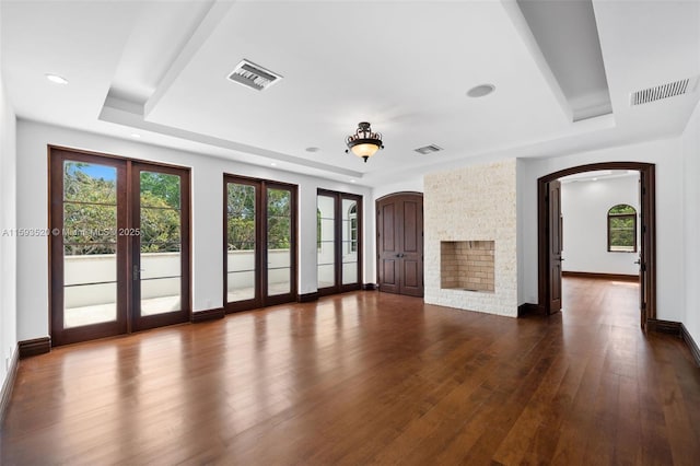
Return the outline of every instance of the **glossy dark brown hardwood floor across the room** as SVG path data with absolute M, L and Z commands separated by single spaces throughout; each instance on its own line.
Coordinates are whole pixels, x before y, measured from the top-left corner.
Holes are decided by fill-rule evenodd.
M 700 369 L 635 283 L 513 319 L 376 291 L 21 361 L 3 465 L 660 464 L 700 458 Z

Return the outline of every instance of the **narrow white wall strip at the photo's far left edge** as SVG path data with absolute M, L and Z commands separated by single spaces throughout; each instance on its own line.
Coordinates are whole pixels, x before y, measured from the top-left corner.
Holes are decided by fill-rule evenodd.
M 0 74 L 0 386 L 16 350 L 16 147 L 15 117 Z

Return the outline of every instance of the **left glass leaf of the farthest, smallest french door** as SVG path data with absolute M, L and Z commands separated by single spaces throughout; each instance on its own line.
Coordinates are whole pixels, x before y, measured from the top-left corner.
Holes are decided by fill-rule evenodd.
M 316 246 L 318 289 L 336 284 L 336 198 L 316 197 Z

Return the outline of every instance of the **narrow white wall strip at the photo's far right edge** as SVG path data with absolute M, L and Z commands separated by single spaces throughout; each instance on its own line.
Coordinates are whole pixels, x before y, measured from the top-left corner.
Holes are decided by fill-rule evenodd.
M 681 138 L 684 159 L 685 313 L 681 322 L 700 345 L 700 104 Z

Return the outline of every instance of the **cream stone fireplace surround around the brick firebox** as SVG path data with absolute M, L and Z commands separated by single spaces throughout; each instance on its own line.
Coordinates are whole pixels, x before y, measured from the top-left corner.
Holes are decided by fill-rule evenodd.
M 517 316 L 516 165 L 516 160 L 510 159 L 431 173 L 423 178 L 427 303 Z M 476 281 L 443 281 L 443 248 L 456 246 L 444 243 L 467 242 L 468 246 L 469 241 L 472 246 L 476 242 L 493 242 L 492 290 L 475 290 Z M 459 264 L 445 266 L 460 271 Z M 467 271 L 464 268 L 462 271 Z M 479 276 L 475 278 L 490 278 L 488 270 L 476 271 Z M 481 276 L 485 272 L 487 276 Z

